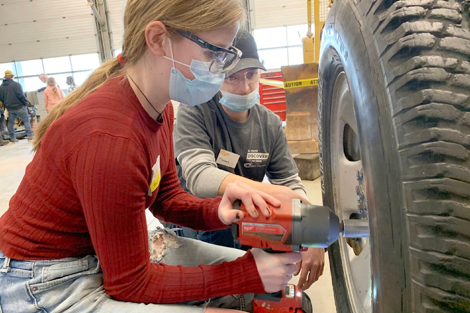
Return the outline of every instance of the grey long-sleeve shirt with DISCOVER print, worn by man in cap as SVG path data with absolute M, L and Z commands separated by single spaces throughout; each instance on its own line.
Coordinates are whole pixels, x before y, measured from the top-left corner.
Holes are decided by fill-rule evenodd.
M 229 174 L 284 185 L 306 199 L 282 121 L 255 105 L 242 123 L 232 120 L 215 95 L 196 107 L 181 105 L 173 132 L 182 186 L 198 197 L 215 197 Z

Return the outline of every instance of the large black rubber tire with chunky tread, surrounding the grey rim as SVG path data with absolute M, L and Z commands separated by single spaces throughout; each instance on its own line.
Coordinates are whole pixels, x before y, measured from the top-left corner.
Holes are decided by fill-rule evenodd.
M 344 73 L 371 228 L 374 313 L 470 312 L 469 11 L 469 0 L 336 0 L 325 24 L 323 198 L 341 211 L 332 160 L 354 150 L 332 135 Z M 329 248 L 337 312 L 361 312 L 352 306 L 341 240 Z

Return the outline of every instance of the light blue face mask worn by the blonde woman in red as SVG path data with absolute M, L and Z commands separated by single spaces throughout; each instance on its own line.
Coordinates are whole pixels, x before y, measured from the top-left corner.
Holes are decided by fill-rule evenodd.
M 191 65 L 173 59 L 173 49 L 170 40 L 171 59 L 173 67 L 170 73 L 170 99 L 181 102 L 188 106 L 196 106 L 207 102 L 217 93 L 224 82 L 225 74 L 212 75 L 209 72 L 211 62 L 192 60 Z M 193 80 L 186 78 L 183 73 L 175 67 L 175 62 L 189 67 L 194 75 Z

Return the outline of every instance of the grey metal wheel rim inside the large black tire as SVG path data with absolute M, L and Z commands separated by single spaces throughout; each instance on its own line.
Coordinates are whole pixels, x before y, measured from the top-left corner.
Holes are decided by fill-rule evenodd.
M 331 166 L 333 201 L 340 220 L 357 215 L 356 172 L 362 170 L 357 123 L 346 75 L 340 72 L 333 89 L 331 114 Z M 366 217 L 367 218 L 367 217 Z M 346 239 L 340 236 L 339 246 L 343 271 L 353 312 L 372 313 L 371 249 L 363 238 L 363 249 L 355 255 Z

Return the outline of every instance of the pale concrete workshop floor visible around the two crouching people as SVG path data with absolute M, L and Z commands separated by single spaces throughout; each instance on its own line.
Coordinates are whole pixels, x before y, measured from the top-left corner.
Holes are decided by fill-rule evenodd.
M 16 144 L 10 143 L 0 147 L 0 215 L 7 210 L 8 202 L 11 196 L 16 192 L 24 176 L 24 169 L 33 157 L 31 149 L 32 144 L 26 139 L 20 140 Z M 313 204 L 322 204 L 320 179 L 313 181 L 305 180 L 304 184 L 310 201 L 312 201 Z M 155 224 L 155 221 L 152 217 L 148 218 L 148 225 L 152 226 L 153 224 Z M 294 277 L 292 283 L 296 282 L 297 278 Z M 328 254 L 325 255 L 325 270 L 323 275 L 306 292 L 312 300 L 313 312 L 336 312 L 331 286 Z

